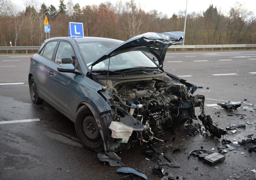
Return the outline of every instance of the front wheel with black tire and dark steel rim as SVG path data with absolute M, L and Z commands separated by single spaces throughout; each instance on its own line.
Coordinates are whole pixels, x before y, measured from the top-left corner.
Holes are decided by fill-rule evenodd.
M 75 131 L 81 143 L 90 150 L 103 150 L 102 137 L 97 122 L 90 109 L 84 105 L 75 117 Z

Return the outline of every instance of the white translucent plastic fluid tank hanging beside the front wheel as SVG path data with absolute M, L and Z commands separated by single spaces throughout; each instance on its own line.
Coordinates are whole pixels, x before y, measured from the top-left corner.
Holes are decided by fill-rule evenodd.
M 122 122 L 112 121 L 109 129 L 112 131 L 111 137 L 122 139 L 122 143 L 127 143 L 133 133 L 133 128 L 123 124 Z

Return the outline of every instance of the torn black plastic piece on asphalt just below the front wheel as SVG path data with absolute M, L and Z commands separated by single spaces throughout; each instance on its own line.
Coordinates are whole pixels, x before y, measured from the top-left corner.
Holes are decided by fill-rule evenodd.
M 125 164 L 122 163 L 121 158 L 114 152 L 98 152 L 98 158 L 100 161 L 108 162 L 109 166 L 125 166 Z

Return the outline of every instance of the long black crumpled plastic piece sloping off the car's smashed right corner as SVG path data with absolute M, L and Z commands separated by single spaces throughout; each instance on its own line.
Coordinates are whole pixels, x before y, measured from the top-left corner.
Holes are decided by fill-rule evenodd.
M 227 134 L 227 131 L 217 128 L 213 125 L 211 116 L 206 116 L 205 113 L 201 113 L 198 118 L 202 121 L 206 130 L 208 130 L 212 135 L 221 138 L 221 135 Z

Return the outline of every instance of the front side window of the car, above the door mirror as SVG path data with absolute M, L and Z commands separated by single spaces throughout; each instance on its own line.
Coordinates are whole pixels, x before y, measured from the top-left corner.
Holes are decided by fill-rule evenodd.
M 55 62 L 58 64 L 61 64 L 61 59 L 62 58 L 72 58 L 73 60 L 73 65 L 75 66 L 75 53 L 71 47 L 71 45 L 69 43 L 63 42 L 61 41 L 59 43 L 59 47 L 56 53 L 56 58 L 55 58 Z

